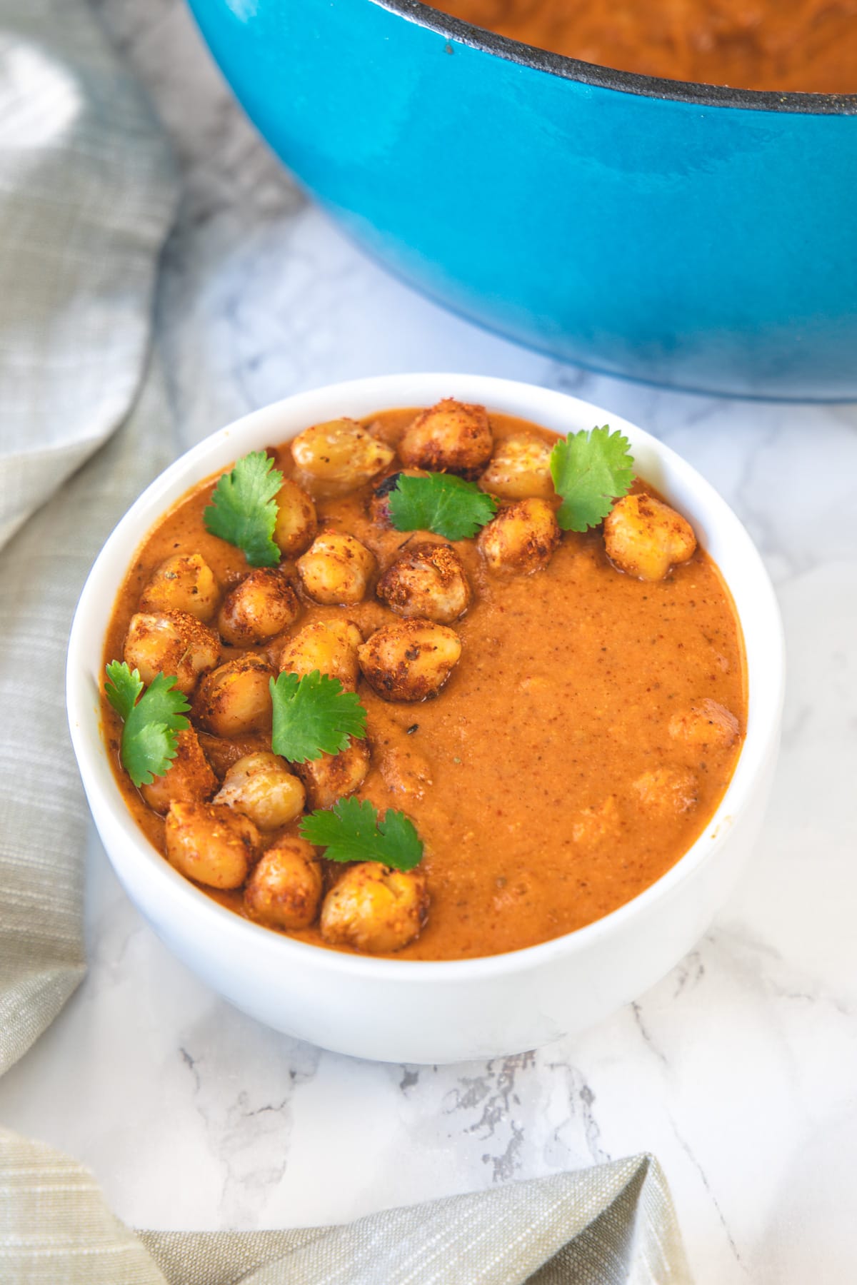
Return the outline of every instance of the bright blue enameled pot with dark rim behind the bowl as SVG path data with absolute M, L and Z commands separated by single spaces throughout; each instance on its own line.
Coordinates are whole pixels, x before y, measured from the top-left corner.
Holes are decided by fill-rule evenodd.
M 190 0 L 288 167 L 505 335 L 708 391 L 857 397 L 857 95 L 606 71 L 416 0 Z

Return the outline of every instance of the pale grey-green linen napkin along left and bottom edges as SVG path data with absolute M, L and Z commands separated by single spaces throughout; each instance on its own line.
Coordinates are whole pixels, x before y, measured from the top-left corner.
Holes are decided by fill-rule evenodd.
M 98 549 L 175 454 L 148 353 L 175 202 L 164 139 L 82 0 L 0 0 L 0 1073 L 84 975 L 66 641 Z M 346 1227 L 134 1234 L 80 1164 L 3 1130 L 0 1279 L 689 1281 L 650 1156 Z

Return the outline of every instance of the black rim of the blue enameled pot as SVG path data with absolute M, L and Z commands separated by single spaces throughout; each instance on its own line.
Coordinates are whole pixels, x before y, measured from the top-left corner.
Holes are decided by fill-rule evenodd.
M 817 94 L 798 90 L 732 89 L 730 85 L 704 85 L 696 81 L 676 81 L 658 76 L 644 76 L 639 72 L 623 72 L 597 63 L 585 63 L 579 58 L 555 54 L 537 45 L 527 45 L 509 36 L 463 18 L 432 9 L 421 0 L 370 0 L 371 4 L 389 13 L 398 14 L 406 22 L 428 27 L 469 45 L 486 54 L 496 54 L 506 62 L 532 71 L 547 72 L 563 80 L 578 81 L 597 89 L 612 89 L 622 94 L 635 94 L 642 98 L 668 99 L 676 103 L 696 103 L 704 107 L 743 108 L 752 112 L 785 112 L 807 116 L 854 116 L 857 114 L 857 93 Z

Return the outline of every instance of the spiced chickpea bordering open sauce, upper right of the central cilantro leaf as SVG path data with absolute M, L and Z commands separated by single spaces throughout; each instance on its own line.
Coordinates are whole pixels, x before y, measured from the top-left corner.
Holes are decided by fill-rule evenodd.
M 384 700 L 436 695 L 461 655 L 455 630 L 433 621 L 384 625 L 357 648 L 364 677 Z

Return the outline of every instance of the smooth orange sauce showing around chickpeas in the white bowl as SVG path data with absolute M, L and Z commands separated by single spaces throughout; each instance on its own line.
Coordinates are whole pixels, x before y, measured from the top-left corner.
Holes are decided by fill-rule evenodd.
M 394 445 L 414 415 L 387 411 L 365 423 Z M 522 428 L 556 438 L 505 415 L 492 415 L 491 427 L 497 441 Z M 288 443 L 272 454 L 292 475 Z M 410 537 L 370 519 L 373 484 L 317 509 L 320 523 L 355 535 L 383 569 Z M 193 491 L 139 550 L 116 603 L 105 662 L 121 658 L 140 592 L 164 558 L 199 553 L 225 587 L 247 573 L 243 554 L 203 527 L 212 488 L 213 481 Z M 425 843 L 429 919 L 398 959 L 532 946 L 637 896 L 703 831 L 740 752 L 741 735 L 726 747 L 686 743 L 669 735 L 671 720 L 713 699 L 738 717 L 743 734 L 747 712 L 740 627 L 703 550 L 651 583 L 610 565 L 600 529 L 565 532 L 550 565 L 533 576 L 490 576 L 474 541 L 455 547 L 474 601 L 455 622 L 463 654 L 446 686 L 419 704 L 391 704 L 364 681 L 358 686 L 373 766 L 357 797 L 406 811 Z M 305 599 L 288 632 L 343 616 L 364 636 L 393 619 L 371 595 L 356 607 Z M 281 645 L 254 650 L 274 658 Z M 222 659 L 235 654 L 225 646 Z M 128 807 L 163 852 L 162 819 L 118 763 L 121 725 L 107 702 L 103 717 Z M 425 761 L 430 784 L 421 798 L 391 794 L 378 768 L 389 750 Z M 635 783 L 659 770 L 690 774 L 695 802 L 676 807 L 669 792 L 641 794 Z M 284 833 L 297 833 L 297 822 Z M 243 914 L 240 891 L 203 891 Z M 290 935 L 325 944 L 316 928 Z

